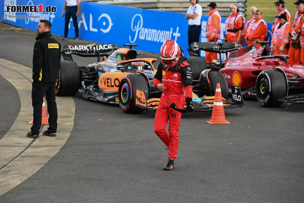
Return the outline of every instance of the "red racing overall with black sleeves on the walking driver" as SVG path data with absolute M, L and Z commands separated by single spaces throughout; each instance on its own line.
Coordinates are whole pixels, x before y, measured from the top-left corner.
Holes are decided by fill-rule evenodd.
M 172 68 L 165 67 L 159 63 L 157 72 L 154 76 L 154 87 L 161 81 L 166 89 L 163 90 L 156 110 L 154 119 L 154 132 L 159 136 L 163 143 L 169 148 L 169 158 L 176 159 L 178 150 L 178 131 L 181 122 L 181 113 L 177 112 L 170 105 L 174 102 L 177 108 L 184 109 L 185 100 L 192 102 L 192 70 L 186 57 L 181 56 L 177 65 Z M 185 99 L 186 93 L 186 99 Z M 192 104 L 192 103 L 191 103 Z M 166 126 L 169 120 L 169 134 Z

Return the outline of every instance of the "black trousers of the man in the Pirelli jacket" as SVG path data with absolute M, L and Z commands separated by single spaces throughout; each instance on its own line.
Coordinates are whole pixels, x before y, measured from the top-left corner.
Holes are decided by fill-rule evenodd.
M 34 80 L 32 83 L 32 105 L 34 108 L 33 113 L 33 126 L 31 127 L 34 135 L 39 134 L 42 119 L 42 104 L 45 95 L 47 99 L 47 112 L 49 114 L 49 127 L 47 128 L 51 133 L 57 132 L 57 105 L 55 98 L 55 85 L 56 83 L 47 83 Z

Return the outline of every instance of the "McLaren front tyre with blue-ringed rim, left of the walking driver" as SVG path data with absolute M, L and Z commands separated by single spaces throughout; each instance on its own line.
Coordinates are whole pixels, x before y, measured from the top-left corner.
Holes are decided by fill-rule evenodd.
M 144 76 L 128 74 L 123 77 L 118 86 L 118 100 L 120 108 L 125 113 L 142 113 L 146 110 L 148 99 L 149 85 Z

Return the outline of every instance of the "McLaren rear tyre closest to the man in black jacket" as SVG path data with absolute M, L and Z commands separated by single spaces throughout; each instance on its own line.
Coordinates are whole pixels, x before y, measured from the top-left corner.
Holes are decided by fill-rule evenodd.
M 61 61 L 56 96 L 74 96 L 81 85 L 81 75 L 74 61 Z

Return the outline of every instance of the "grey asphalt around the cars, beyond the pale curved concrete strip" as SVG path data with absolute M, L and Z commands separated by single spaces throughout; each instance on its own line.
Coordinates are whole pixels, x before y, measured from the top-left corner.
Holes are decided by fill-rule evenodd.
M 0 36 L 0 58 L 32 66 L 34 35 Z M 243 108 L 225 111 L 230 125 L 207 124 L 211 111 L 185 113 L 176 168 L 163 171 L 168 151 L 154 134 L 155 112 L 128 115 L 118 105 L 74 101 L 65 146 L 0 202 L 304 201 L 304 105 L 266 109 L 245 100 Z

